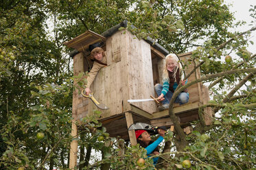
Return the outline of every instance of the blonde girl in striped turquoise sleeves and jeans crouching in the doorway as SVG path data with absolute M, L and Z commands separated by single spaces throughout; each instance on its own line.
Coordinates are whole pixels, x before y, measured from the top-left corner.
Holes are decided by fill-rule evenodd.
M 181 73 L 181 63 L 178 62 L 178 57 L 174 53 L 170 53 L 165 57 L 165 68 L 163 69 L 163 85 L 156 84 L 154 90 L 159 95 L 157 98 L 162 101 L 162 106 L 159 106 L 159 111 L 169 108 L 170 100 L 176 90 L 178 84 L 184 86 L 187 81 L 183 80 L 184 76 Z M 189 101 L 189 94 L 187 89 L 181 92 L 175 99 L 177 104 L 187 104 Z

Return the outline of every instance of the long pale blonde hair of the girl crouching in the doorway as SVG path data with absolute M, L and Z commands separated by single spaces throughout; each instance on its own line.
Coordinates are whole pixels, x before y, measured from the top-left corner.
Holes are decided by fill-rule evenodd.
M 178 68 L 180 69 L 180 71 L 181 71 L 181 69 L 182 69 L 182 66 L 181 66 L 181 63 L 180 62 L 178 62 L 179 60 L 178 60 L 178 56 L 176 56 L 176 54 L 175 53 L 170 53 L 170 54 L 168 54 L 166 57 L 165 57 L 165 68 L 163 69 L 163 80 L 169 80 L 169 75 L 168 75 L 168 70 L 167 70 L 167 61 L 168 60 L 173 60 L 174 62 L 176 62 L 176 67 L 175 67 L 175 69 L 174 69 L 174 79 L 175 79 L 175 81 L 176 81 L 176 73 L 177 73 L 177 71 L 178 71 Z

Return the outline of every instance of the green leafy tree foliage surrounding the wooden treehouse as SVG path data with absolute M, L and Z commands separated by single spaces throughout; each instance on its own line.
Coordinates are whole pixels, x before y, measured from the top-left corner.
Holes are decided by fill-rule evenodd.
M 255 9 L 250 10 L 253 19 Z M 100 112 L 81 120 L 87 126 L 81 127 L 80 137 L 69 135 L 72 93 L 77 88 L 73 82 L 84 75 L 71 77 L 71 59 L 64 54 L 71 49 L 62 42 L 87 29 L 100 34 L 124 19 L 138 38 L 150 36 L 174 53 L 193 49 L 184 65 L 200 63 L 201 76 L 208 76 L 202 82 L 210 84 L 207 106 L 216 112 L 213 125 L 195 121 L 192 134 L 174 133 L 172 152 L 165 153 L 176 155 L 167 160 L 170 169 L 183 169 L 183 160 L 191 161 L 191 169 L 255 169 L 255 75 L 225 74 L 255 67 L 255 54 L 246 49 L 253 42 L 250 31 L 229 32 L 242 23 L 233 23 L 222 0 L 10 0 L 3 1 L 0 10 L 0 169 L 68 169 L 72 140 L 86 151 L 92 147 L 103 153 L 94 161 L 81 159 L 79 165 L 88 163 L 83 169 L 106 164 L 112 169 L 154 169 L 151 159 L 137 166 L 139 158 L 146 158 L 138 145 L 118 154 L 117 143 L 123 141 L 106 133 L 97 121 Z M 53 27 L 51 36 L 48 27 Z M 226 55 L 232 56 L 231 63 L 222 62 Z M 217 81 L 211 75 L 218 73 L 222 75 Z M 84 83 L 82 79 L 78 86 Z M 36 138 L 38 132 L 44 138 Z

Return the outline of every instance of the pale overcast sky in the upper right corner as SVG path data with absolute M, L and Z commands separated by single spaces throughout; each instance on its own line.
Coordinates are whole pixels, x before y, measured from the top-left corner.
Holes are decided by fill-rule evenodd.
M 239 30 L 244 32 L 252 27 L 256 27 L 256 21 L 253 17 L 250 16 L 249 9 L 251 8 L 250 5 L 256 5 L 256 0 L 225 0 L 226 3 L 233 3 L 233 6 L 229 6 L 231 12 L 235 12 L 235 19 L 236 21 L 246 21 L 246 25 L 240 27 Z M 249 26 L 249 24 L 253 21 L 253 25 Z M 256 53 L 256 30 L 251 35 L 254 45 L 249 45 L 248 51 L 251 51 L 253 54 Z

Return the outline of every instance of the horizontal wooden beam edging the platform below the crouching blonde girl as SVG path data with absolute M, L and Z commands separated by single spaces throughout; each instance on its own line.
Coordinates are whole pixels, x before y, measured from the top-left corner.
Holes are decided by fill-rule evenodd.
M 200 102 L 195 102 L 192 104 L 183 104 L 181 106 L 178 106 L 174 108 L 175 114 L 181 114 L 183 112 L 188 112 L 190 110 L 196 110 L 198 109 L 198 106 L 201 106 L 202 104 Z M 159 119 L 161 117 L 167 117 L 169 116 L 169 110 L 163 110 L 161 112 L 154 112 L 152 114 L 152 119 Z

